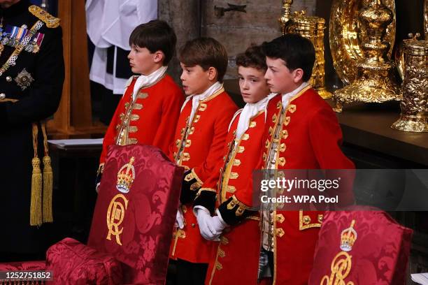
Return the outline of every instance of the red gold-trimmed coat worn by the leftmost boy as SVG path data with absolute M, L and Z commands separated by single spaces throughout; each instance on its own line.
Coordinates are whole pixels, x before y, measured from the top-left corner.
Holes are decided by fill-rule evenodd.
M 103 141 L 100 170 L 109 145 L 154 145 L 168 154 L 184 96 L 171 76 L 164 75 L 154 84 L 141 88 L 132 98 L 138 76 L 129 79 Z

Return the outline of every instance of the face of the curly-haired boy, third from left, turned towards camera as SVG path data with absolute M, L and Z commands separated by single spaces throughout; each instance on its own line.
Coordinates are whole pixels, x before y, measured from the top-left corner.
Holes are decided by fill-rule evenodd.
M 254 67 L 238 66 L 239 89 L 245 103 L 257 103 L 269 94 L 264 71 Z

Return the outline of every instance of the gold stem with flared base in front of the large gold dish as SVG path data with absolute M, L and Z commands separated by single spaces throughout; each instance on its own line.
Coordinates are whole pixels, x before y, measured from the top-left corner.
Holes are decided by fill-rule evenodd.
M 383 5 L 382 0 L 369 0 L 360 10 L 359 20 L 366 31 L 366 40 L 361 46 L 364 57 L 357 61 L 355 81 L 334 92 L 336 112 L 342 111 L 344 103 L 401 100 L 394 68 L 387 57 L 390 43 L 384 41 L 387 25 L 393 17 L 392 10 Z

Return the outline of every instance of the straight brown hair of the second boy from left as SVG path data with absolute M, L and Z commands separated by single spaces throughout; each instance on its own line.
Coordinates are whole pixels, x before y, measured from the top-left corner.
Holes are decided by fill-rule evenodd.
M 201 66 L 204 71 L 217 69 L 217 80 L 222 82 L 227 71 L 227 51 L 214 38 L 195 38 L 187 41 L 178 52 L 178 59 L 185 66 Z

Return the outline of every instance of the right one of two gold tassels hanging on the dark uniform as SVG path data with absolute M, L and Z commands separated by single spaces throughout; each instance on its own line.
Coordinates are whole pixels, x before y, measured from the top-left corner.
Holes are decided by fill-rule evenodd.
M 52 189 L 53 189 L 53 173 L 50 164 L 48 137 L 46 136 L 46 123 L 41 124 L 43 133 L 43 147 L 45 156 L 43 156 L 43 223 L 52 223 Z

